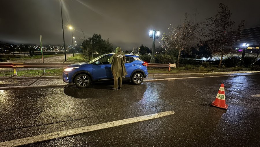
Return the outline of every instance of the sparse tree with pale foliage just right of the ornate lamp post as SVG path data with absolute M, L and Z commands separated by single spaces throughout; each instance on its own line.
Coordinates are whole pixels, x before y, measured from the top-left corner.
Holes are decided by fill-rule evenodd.
M 200 27 L 201 24 L 202 22 L 196 22 L 195 19 L 188 18 L 186 13 L 183 24 L 178 27 L 172 25 L 171 28 L 168 28 L 171 30 L 162 36 L 162 47 L 165 48 L 166 52 L 179 51 L 177 67 L 180 64 L 181 50 L 199 40 L 198 36 L 203 30 Z

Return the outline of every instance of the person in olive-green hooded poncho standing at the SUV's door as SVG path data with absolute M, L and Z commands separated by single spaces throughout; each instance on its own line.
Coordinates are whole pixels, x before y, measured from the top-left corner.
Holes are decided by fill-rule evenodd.
M 111 63 L 111 71 L 114 77 L 114 88 L 113 90 L 121 89 L 122 87 L 122 77 L 127 75 L 127 71 L 125 69 L 126 58 L 125 55 L 121 53 L 121 48 L 116 48 L 116 53 L 113 54 L 109 63 Z M 118 87 L 119 86 L 119 87 Z

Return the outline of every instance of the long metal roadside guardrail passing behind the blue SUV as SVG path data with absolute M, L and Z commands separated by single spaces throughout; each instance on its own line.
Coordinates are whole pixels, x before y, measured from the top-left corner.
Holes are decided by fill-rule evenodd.
M 66 67 L 73 63 L 7 63 L 0 62 L 0 68 L 13 68 L 14 75 L 17 76 L 16 68 L 55 68 L 55 67 Z M 169 67 L 168 71 L 171 70 L 171 67 L 176 68 L 176 64 L 159 64 L 159 63 L 148 63 L 148 67 Z M 44 69 L 45 72 L 45 69 Z

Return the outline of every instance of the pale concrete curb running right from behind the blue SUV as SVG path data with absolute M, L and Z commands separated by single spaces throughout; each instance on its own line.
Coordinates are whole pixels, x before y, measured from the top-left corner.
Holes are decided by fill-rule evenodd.
M 160 76 L 180 76 L 180 75 L 203 75 L 203 74 L 228 74 L 228 73 L 260 73 L 260 71 L 228 71 L 228 72 L 205 72 L 205 73 L 156 73 L 149 74 L 148 77 L 160 77 Z

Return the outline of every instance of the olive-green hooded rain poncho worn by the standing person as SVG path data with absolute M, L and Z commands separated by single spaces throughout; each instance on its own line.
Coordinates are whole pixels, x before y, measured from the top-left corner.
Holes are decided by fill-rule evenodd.
M 112 63 L 111 71 L 113 75 L 116 75 L 114 78 L 118 79 L 119 77 L 127 75 L 125 69 L 126 58 L 125 55 L 121 53 L 120 47 L 116 48 L 116 53 L 110 57 L 109 63 Z

